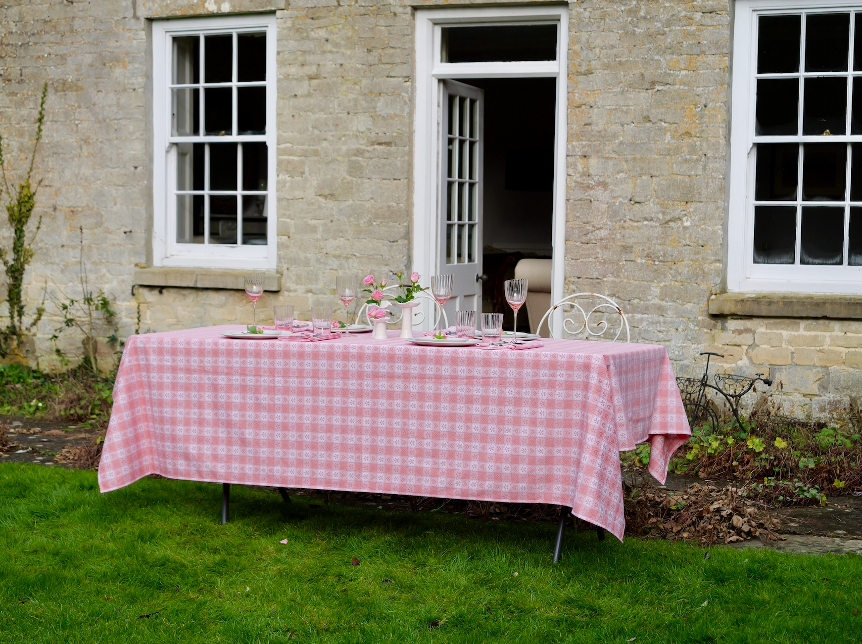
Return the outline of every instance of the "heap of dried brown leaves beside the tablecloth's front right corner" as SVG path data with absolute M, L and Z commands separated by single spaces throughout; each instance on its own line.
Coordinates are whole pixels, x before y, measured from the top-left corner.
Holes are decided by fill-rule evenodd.
M 628 489 L 626 528 L 630 533 L 709 545 L 759 537 L 784 539 L 775 533 L 778 519 L 735 487 L 690 485 L 684 491 L 650 485 Z

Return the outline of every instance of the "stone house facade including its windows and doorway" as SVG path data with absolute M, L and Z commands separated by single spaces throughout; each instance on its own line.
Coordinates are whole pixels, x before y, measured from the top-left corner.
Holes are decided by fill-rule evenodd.
M 29 300 L 74 292 L 79 253 L 116 302 L 121 335 L 249 322 L 241 276 L 253 270 L 267 274 L 261 310 L 294 303 L 300 315 L 338 304 L 340 273 L 438 272 L 443 231 L 473 234 L 469 213 L 440 215 L 440 119 L 455 114 L 444 99 L 467 109 L 475 90 L 484 216 L 522 204 L 508 224 L 485 222 L 486 266 L 491 251 L 551 256 L 553 297 L 613 297 L 633 341 L 664 344 L 679 375 L 715 351 L 723 371 L 774 378 L 785 414 L 846 415 L 862 392 L 857 11 L 823 0 L 2 3 L 9 167 L 22 166 L 48 84 Z M 495 27 L 515 31 L 495 41 Z M 528 62 L 494 53 L 509 46 Z M 222 112 L 200 108 L 218 101 Z M 826 132 L 832 147 L 816 147 Z M 862 188 L 862 160 L 859 174 Z M 523 233 L 534 229 L 547 241 Z M 493 234 L 502 241 L 489 245 Z M 48 309 L 34 345 L 43 366 Z

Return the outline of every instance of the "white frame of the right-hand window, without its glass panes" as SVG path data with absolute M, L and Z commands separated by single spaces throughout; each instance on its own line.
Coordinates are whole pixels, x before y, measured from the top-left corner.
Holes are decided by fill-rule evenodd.
M 737 0 L 736 2 L 730 108 L 728 291 L 862 293 L 862 266 L 794 266 L 753 263 L 757 18 L 763 15 L 782 15 L 788 12 L 811 9 L 853 12 L 853 10 L 862 10 L 862 2 L 840 3 L 834 2 L 834 0 Z M 849 46 L 852 52 L 852 41 Z M 804 60 L 800 59 L 799 64 L 804 66 Z M 849 91 L 852 91 L 852 84 Z M 801 106 L 800 109 L 802 109 Z M 822 137 L 819 136 L 799 136 L 796 138 L 801 143 L 823 142 Z M 772 142 L 772 137 L 761 136 L 758 137 L 757 142 L 769 143 Z M 856 142 L 857 145 L 862 145 L 862 136 L 836 135 L 830 137 L 828 142 Z M 802 190 L 801 184 L 797 190 Z M 847 190 L 849 190 L 849 185 Z M 827 206 L 830 203 L 823 202 L 820 205 Z M 840 205 L 840 203 L 834 203 L 834 205 Z M 798 226 L 797 222 L 797 245 L 799 243 Z

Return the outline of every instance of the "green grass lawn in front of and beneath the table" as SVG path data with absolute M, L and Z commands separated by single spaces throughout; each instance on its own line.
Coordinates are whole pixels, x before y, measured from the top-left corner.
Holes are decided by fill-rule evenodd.
M 0 641 L 862 637 L 853 555 L 715 547 L 704 559 L 570 532 L 555 566 L 550 525 L 309 508 L 236 486 L 226 526 L 220 508 L 219 485 L 146 478 L 103 495 L 94 472 L 0 465 Z

